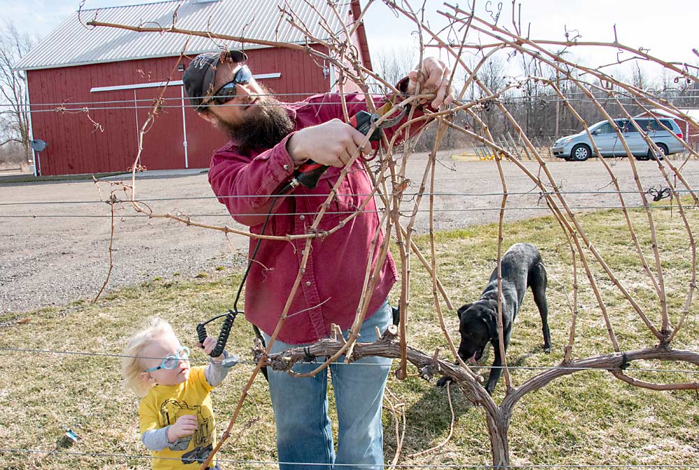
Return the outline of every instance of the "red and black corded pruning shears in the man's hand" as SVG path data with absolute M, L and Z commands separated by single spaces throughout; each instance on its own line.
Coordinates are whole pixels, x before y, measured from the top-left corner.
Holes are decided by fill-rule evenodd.
M 398 114 L 391 117 L 391 119 L 386 119 L 385 121 L 381 122 L 381 124 L 376 126 L 376 122 L 384 115 L 387 115 L 394 108 L 397 108 L 397 106 L 393 103 L 393 101 L 387 101 L 386 104 L 377 109 L 373 114 L 366 111 L 359 111 L 356 113 L 356 115 L 349 119 L 349 125 L 364 135 L 368 135 L 372 126 L 375 126 L 374 131 L 369 137 L 369 142 L 379 142 L 381 140 L 380 129 L 395 126 L 401 121 L 401 119 L 403 119 L 403 116 L 405 116 L 407 108 L 405 106 L 401 106 L 401 110 L 398 111 Z M 291 182 L 287 186 L 289 189 L 293 189 L 301 184 L 308 189 L 314 189 L 315 186 L 318 185 L 318 180 L 328 168 L 329 166 L 327 165 L 322 165 L 320 163 L 316 163 L 315 161 L 308 160 L 303 163 L 303 165 L 298 167 L 294 178 L 291 179 Z

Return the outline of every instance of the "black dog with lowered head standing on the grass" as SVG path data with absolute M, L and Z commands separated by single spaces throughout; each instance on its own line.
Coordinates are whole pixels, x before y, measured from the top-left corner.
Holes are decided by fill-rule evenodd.
M 546 270 L 542 264 L 539 250 L 528 243 L 517 243 L 505 251 L 502 260 L 503 274 L 503 334 L 505 351 L 510 344 L 512 335 L 512 323 L 517 316 L 521 302 L 524 299 L 526 288 L 531 287 L 534 302 L 541 316 L 541 330 L 544 334 L 544 351 L 551 351 L 551 335 L 549 333 L 549 308 L 546 303 Z M 500 358 L 500 344 L 498 340 L 498 269 L 490 276 L 488 286 L 476 302 L 463 305 L 456 314 L 459 316 L 459 357 L 464 362 L 475 364 L 483 355 L 485 347 L 490 342 L 495 351 L 493 369 L 490 371 L 486 390 L 493 394 L 495 386 L 500 379 L 503 364 Z M 442 377 L 437 385 L 444 386 L 448 377 Z

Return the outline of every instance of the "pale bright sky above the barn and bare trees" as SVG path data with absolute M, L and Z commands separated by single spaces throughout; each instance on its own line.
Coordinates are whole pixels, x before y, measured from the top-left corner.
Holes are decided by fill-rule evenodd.
M 257 0 L 266 1 L 266 0 Z M 322 0 L 324 1 L 324 0 Z M 251 0 L 252 2 L 252 0 Z M 151 0 L 85 0 L 85 8 L 103 8 L 108 6 L 154 3 Z M 254 3 L 254 2 L 252 2 Z M 422 0 L 410 0 L 413 6 L 421 5 Z M 463 4 L 468 0 L 449 3 Z M 614 24 L 617 27 L 619 42 L 630 47 L 650 49 L 650 54 L 668 61 L 688 61 L 699 64 L 699 57 L 693 54 L 694 47 L 699 48 L 699 36 L 696 34 L 696 20 L 699 18 L 699 1 L 695 0 L 519 0 L 521 3 L 521 24 L 523 29 L 531 31 L 533 39 L 551 39 L 563 41 L 565 30 L 580 34 L 580 41 L 614 40 Z M 362 5 L 366 4 L 362 0 Z M 512 25 L 512 1 L 502 2 L 503 11 L 500 25 Z M 11 20 L 20 31 L 41 38 L 46 36 L 78 9 L 80 0 L 0 0 L 0 18 Z M 477 11 L 486 18 L 486 6 L 496 10 L 498 1 L 476 0 Z M 433 29 L 444 24 L 444 17 L 438 10 L 448 10 L 442 0 L 427 0 L 426 19 Z M 1 24 L 1 22 L 0 22 Z M 387 54 L 406 47 L 417 48 L 415 26 L 408 20 L 396 19 L 386 6 L 377 0 L 366 16 L 365 27 L 368 43 L 373 55 Z M 470 41 L 478 41 L 470 36 Z M 487 41 L 487 40 L 483 40 Z M 432 55 L 439 55 L 433 50 Z M 443 53 L 442 53 L 443 54 Z M 593 52 L 577 47 L 575 58 L 590 65 L 601 65 L 614 61 L 616 54 L 608 51 Z M 624 56 L 622 55 L 621 58 Z

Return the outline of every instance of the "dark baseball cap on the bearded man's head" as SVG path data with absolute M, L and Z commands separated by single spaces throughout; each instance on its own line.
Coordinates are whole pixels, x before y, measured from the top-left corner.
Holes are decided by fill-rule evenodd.
M 194 110 L 200 111 L 203 98 L 214 91 L 216 81 L 216 68 L 220 61 L 245 62 L 245 52 L 231 49 L 224 52 L 204 52 L 194 57 L 189 63 L 182 83 L 185 85 L 185 94 L 192 103 Z

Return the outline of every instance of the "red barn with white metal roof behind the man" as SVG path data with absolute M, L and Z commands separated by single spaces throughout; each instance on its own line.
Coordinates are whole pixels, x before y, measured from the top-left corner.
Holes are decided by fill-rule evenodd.
M 138 163 L 149 170 L 208 168 L 212 151 L 226 137 L 196 115 L 182 91 L 182 73 L 200 52 L 244 49 L 255 78 L 282 101 L 337 90 L 333 67 L 303 51 L 241 45 L 213 35 L 89 28 L 83 22 L 168 27 L 174 18 L 179 29 L 305 45 L 306 38 L 278 8 L 289 5 L 312 36 L 327 38 L 328 28 L 341 37 L 343 25 L 328 2 L 311 3 L 315 8 L 303 0 L 173 0 L 76 12 L 15 66 L 27 73 L 32 138 L 48 144 L 34 153 L 35 175 L 127 170 L 138 155 L 140 130 L 154 99 L 168 80 L 157 117 L 143 135 Z M 339 2 L 337 8 L 346 24 L 360 13 L 359 0 Z M 352 43 L 371 68 L 363 26 Z M 328 52 L 318 43 L 310 47 Z M 182 50 L 186 57 L 178 68 Z

